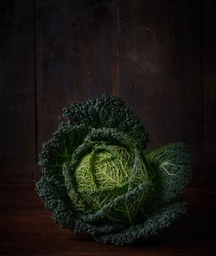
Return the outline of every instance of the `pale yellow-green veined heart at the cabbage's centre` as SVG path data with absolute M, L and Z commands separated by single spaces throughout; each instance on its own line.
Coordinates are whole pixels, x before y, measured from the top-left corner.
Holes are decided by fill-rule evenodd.
M 129 182 L 133 153 L 118 145 L 98 145 L 82 157 L 75 170 L 79 192 L 123 187 Z

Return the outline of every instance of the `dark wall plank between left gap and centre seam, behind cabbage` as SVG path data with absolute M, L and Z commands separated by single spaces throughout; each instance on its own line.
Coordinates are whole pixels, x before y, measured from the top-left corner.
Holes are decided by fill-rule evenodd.
M 115 92 L 116 1 L 36 1 L 38 151 L 64 106 Z

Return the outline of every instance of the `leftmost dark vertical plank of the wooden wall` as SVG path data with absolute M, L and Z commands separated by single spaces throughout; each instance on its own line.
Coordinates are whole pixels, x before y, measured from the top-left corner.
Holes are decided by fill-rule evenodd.
M 1 1 L 1 181 L 30 181 L 36 168 L 33 28 L 33 1 Z

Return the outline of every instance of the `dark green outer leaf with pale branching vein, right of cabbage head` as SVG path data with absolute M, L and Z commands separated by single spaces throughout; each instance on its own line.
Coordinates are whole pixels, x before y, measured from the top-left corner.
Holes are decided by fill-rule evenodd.
M 153 186 L 145 208 L 149 212 L 186 191 L 191 178 L 190 156 L 183 143 L 167 144 L 145 154 Z

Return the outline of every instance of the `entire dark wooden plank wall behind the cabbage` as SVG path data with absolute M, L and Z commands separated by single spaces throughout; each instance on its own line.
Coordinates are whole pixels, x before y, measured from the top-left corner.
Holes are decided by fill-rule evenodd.
M 148 149 L 186 142 L 194 182 L 213 182 L 215 10 L 213 0 L 2 1 L 0 181 L 37 179 L 62 107 L 112 93 L 147 125 Z

